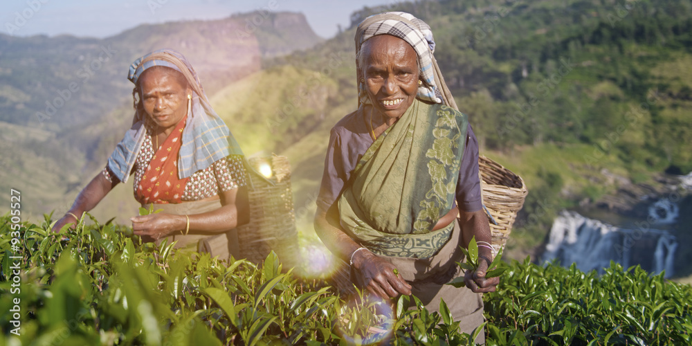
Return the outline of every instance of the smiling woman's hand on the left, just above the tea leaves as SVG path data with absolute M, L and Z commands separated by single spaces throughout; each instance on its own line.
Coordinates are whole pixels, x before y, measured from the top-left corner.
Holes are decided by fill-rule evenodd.
M 399 295 L 410 295 L 411 285 L 406 283 L 401 274 L 394 273 L 394 264 L 381 259 L 370 251 L 358 251 L 354 255 L 353 266 L 356 269 L 358 286 L 380 298 L 397 298 Z

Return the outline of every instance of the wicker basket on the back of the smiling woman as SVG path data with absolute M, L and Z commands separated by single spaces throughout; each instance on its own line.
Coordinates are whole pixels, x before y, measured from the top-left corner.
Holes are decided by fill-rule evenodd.
M 499 163 L 478 156 L 483 205 L 490 221 L 493 248 L 504 247 L 511 233 L 517 212 L 524 205 L 528 193 L 520 176 Z

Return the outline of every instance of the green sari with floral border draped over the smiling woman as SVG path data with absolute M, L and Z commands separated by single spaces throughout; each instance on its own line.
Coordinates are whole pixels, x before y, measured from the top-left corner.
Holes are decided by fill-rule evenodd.
M 467 128 L 459 111 L 415 100 L 358 161 L 338 201 L 346 233 L 379 255 L 435 255 L 453 230 L 431 232 L 454 206 Z

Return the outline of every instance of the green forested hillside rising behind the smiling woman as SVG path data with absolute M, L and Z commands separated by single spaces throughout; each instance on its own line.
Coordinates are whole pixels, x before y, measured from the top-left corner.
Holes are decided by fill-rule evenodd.
M 381 10 L 354 13 L 352 25 Z M 692 170 L 689 1 L 421 1 L 386 10 L 430 24 L 437 61 L 482 151 L 527 181 L 515 245 L 543 242 L 561 208 L 593 206 L 623 183 Z M 307 174 L 298 206 L 314 199 L 321 174 L 315 152 L 323 151 L 314 148 L 324 148 L 331 125 L 356 107 L 353 26 L 264 63 L 319 72 L 338 86 L 326 101 L 331 111 L 306 115 L 320 122 L 321 135 L 306 134 L 302 149 L 286 151 Z M 309 120 L 291 125 L 307 131 L 300 122 Z

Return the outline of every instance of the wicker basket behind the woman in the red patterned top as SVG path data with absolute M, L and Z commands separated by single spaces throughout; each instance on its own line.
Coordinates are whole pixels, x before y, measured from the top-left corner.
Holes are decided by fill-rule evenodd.
M 288 158 L 276 155 L 249 158 L 246 168 L 250 223 L 238 228 L 240 255 L 262 263 L 273 250 L 284 269 L 295 266 L 300 251 Z

